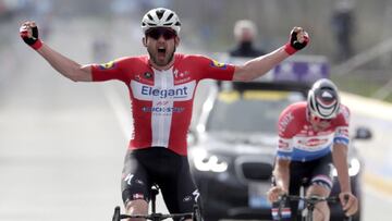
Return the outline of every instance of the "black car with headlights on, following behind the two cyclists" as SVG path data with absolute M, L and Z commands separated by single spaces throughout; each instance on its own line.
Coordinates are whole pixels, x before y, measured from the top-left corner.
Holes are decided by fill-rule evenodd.
M 290 103 L 305 100 L 308 89 L 309 84 L 273 82 L 212 89 L 189 134 L 188 154 L 207 221 L 272 220 L 266 192 L 271 186 L 278 118 Z M 367 130 L 359 135 L 369 137 Z M 360 198 L 362 163 L 355 148 L 350 165 L 353 192 Z M 336 182 L 333 194 L 339 192 Z M 331 220 L 342 216 L 338 206 L 331 207 Z

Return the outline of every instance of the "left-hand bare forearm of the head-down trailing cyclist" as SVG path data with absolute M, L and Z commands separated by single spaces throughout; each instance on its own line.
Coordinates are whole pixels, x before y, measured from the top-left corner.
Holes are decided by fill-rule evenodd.
M 285 193 L 289 193 L 290 162 L 289 159 L 277 158 L 275 167 L 272 172 L 277 186 L 281 187 Z

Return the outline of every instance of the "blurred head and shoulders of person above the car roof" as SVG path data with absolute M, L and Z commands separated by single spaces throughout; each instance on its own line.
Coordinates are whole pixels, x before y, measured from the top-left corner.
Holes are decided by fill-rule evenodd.
M 254 46 L 257 38 L 257 27 L 254 22 L 249 20 L 237 21 L 234 25 L 234 37 L 237 45 L 229 51 L 231 57 L 256 58 L 265 54 L 264 50 Z

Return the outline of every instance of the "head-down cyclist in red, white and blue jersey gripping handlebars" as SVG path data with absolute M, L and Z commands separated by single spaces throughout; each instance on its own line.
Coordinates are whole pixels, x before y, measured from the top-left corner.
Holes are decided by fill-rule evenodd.
M 336 168 L 341 187 L 340 201 L 346 216 L 358 209 L 352 194 L 347 148 L 350 143 L 350 110 L 340 102 L 336 86 L 330 79 L 319 79 L 310 88 L 307 101 L 296 102 L 284 109 L 279 118 L 279 145 L 273 170 L 274 185 L 267 193 L 268 199 L 278 201 L 283 194 L 298 195 L 302 181 L 308 181 L 306 196 L 328 197 L 332 188 L 332 165 Z M 348 196 L 345 199 L 344 196 Z M 283 218 L 295 220 L 297 204 L 290 202 L 291 213 Z M 278 218 L 277 205 L 272 217 Z M 292 217 L 292 218 L 290 218 Z M 318 202 L 314 220 L 329 221 L 326 201 Z

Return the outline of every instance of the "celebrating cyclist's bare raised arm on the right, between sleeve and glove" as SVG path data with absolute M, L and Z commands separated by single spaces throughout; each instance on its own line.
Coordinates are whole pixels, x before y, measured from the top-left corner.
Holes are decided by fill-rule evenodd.
M 248 82 L 260 77 L 287 57 L 290 54 L 282 47 L 266 56 L 253 59 L 243 65 L 236 65 L 233 81 Z

